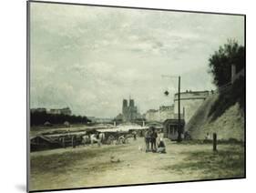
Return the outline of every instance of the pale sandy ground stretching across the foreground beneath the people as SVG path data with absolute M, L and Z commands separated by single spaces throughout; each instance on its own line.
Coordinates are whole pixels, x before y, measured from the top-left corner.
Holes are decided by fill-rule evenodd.
M 136 141 L 131 139 L 126 145 L 68 147 L 33 152 L 30 189 L 86 188 L 227 177 L 221 176 L 221 173 L 211 176 L 206 168 L 179 169 L 179 165 L 182 167 L 188 161 L 193 162 L 188 160 L 191 152 L 213 154 L 210 144 L 178 145 L 168 139 L 165 143 L 166 154 L 146 153 L 143 138 Z M 143 150 L 138 147 L 143 147 Z M 230 145 L 219 145 L 218 148 L 230 149 Z M 67 163 L 63 163 L 64 158 Z M 241 172 L 239 177 L 242 176 Z

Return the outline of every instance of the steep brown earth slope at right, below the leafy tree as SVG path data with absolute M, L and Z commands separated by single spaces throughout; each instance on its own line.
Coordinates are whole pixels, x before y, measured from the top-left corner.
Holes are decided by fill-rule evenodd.
M 209 96 L 189 120 L 186 130 L 193 139 L 204 139 L 206 134 L 217 133 L 218 139 L 235 138 L 244 140 L 244 117 L 239 102 L 234 102 L 219 117 L 214 117 L 218 110 L 212 108 L 221 100 L 220 94 Z

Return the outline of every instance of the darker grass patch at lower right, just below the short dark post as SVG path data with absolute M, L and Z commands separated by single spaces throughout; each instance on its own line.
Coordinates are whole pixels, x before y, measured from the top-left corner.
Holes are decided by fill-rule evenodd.
M 234 146 L 217 152 L 196 151 L 184 153 L 183 162 L 163 169 L 178 173 L 200 172 L 200 178 L 242 178 L 244 177 L 243 147 Z

